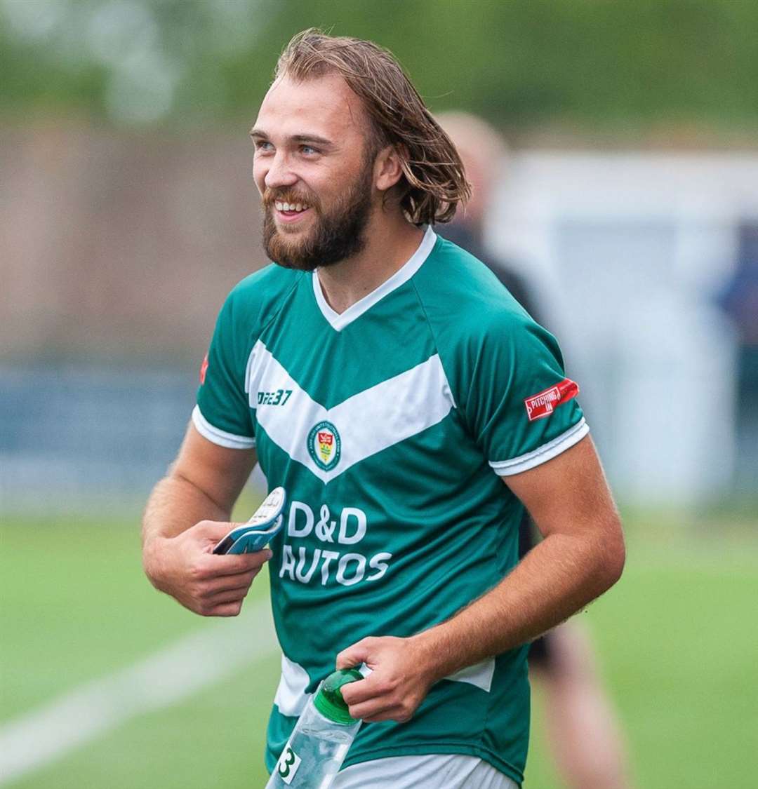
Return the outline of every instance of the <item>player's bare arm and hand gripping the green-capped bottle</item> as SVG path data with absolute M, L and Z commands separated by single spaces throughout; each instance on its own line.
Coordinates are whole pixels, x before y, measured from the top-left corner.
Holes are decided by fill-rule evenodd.
M 544 539 L 497 586 L 446 622 L 411 638 L 363 638 L 343 650 L 337 667 L 365 662 L 373 669 L 362 682 L 343 687 L 355 718 L 408 720 L 435 682 L 537 638 L 621 577 L 621 521 L 589 436 L 504 481 Z

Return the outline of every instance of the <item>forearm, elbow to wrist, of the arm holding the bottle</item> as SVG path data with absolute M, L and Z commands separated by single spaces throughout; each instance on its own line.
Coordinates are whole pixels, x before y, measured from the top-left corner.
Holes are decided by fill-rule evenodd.
M 612 533 L 546 537 L 490 592 L 414 636 L 434 680 L 531 641 L 605 592 L 624 561 L 620 527 Z

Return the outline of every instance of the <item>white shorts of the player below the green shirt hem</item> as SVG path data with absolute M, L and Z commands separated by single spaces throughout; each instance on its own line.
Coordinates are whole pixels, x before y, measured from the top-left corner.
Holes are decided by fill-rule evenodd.
M 392 756 L 337 773 L 332 789 L 518 789 L 488 762 L 462 753 Z

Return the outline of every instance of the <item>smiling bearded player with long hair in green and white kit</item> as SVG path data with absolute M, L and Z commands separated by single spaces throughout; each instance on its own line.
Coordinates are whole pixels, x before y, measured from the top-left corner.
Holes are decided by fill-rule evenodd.
M 392 55 L 309 30 L 251 132 L 276 265 L 228 297 L 144 566 L 235 615 L 270 560 L 273 768 L 336 665 L 364 725 L 335 787 L 513 787 L 527 641 L 617 580 L 621 526 L 553 338 L 434 234 L 460 159 Z M 271 551 L 216 556 L 255 459 L 287 489 Z M 545 539 L 517 563 L 525 505 Z

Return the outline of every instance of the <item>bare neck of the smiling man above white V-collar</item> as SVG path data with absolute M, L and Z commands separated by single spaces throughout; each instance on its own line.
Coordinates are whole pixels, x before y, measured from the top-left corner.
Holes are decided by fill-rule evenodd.
M 335 312 L 344 312 L 399 271 L 424 236 L 424 231 L 399 211 L 389 213 L 381 209 L 374 211 L 365 232 L 362 252 L 315 272 L 324 297 Z

